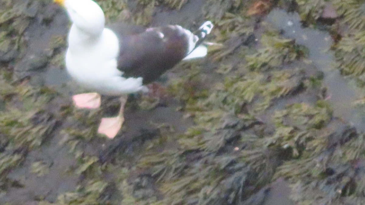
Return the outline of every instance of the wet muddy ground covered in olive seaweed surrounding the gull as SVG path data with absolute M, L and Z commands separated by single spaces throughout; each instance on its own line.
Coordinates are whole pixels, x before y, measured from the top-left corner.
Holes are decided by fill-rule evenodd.
M 131 95 L 122 130 L 106 139 L 97 125 L 118 100 L 72 106 L 84 90 L 64 69 L 65 12 L 50 1 L 2 1 L 0 204 L 364 204 L 364 94 L 336 70 L 348 48 L 332 40 L 361 27 L 351 8 L 98 2 L 108 23 L 196 28 L 210 19 L 208 41 L 218 44 L 162 76 L 163 97 Z

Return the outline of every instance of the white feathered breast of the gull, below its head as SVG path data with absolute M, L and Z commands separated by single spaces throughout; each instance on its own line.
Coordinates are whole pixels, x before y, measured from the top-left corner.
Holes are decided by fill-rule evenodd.
M 105 28 L 98 38 L 90 38 L 72 27 L 66 53 L 66 68 L 81 86 L 97 92 L 108 92 L 108 79 L 121 76 L 117 69 L 118 38 Z M 106 87 L 106 88 L 105 88 Z

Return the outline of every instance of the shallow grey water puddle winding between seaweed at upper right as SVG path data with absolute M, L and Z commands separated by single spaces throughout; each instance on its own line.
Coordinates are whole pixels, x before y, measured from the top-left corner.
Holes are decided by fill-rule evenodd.
M 334 52 L 330 50 L 333 40 L 325 31 L 302 28 L 297 13 L 287 13 L 282 9 L 273 9 L 266 22 L 284 31 L 284 36 L 295 39 L 297 44 L 306 46 L 308 58 L 324 74 L 323 85 L 327 87 L 328 101 L 334 109 L 334 116 L 353 124 L 360 132 L 365 131 L 365 112 L 357 108 L 354 102 L 365 92 L 355 86 L 353 81 L 341 76 L 335 68 Z

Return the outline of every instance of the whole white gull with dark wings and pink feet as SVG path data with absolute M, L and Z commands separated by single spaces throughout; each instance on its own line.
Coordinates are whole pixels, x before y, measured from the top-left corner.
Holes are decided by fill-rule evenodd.
M 93 0 L 54 0 L 72 21 L 68 34 L 66 69 L 84 88 L 97 93 L 73 96 L 78 108 L 100 107 L 100 94 L 121 97 L 119 115 L 103 118 L 98 132 L 114 138 L 124 121 L 125 94 L 145 92 L 181 60 L 207 55 L 202 45 L 213 28 L 205 22 L 196 32 L 178 25 L 143 28 L 120 24 L 105 28 L 104 12 Z M 123 96 L 124 95 L 124 96 Z

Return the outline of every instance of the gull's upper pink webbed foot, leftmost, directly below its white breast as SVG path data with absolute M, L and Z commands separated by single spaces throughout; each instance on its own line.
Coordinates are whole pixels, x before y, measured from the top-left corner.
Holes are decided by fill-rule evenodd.
M 73 103 L 77 108 L 95 109 L 101 104 L 101 96 L 98 93 L 82 93 L 72 96 Z

